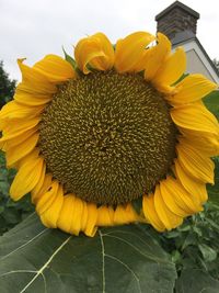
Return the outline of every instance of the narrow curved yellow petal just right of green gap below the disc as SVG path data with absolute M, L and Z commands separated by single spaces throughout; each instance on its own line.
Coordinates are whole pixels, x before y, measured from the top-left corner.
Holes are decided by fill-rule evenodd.
M 160 221 L 158 213 L 154 207 L 154 195 L 143 195 L 142 200 L 142 210 L 145 217 L 149 221 L 149 223 L 159 232 L 165 230 L 165 226 Z

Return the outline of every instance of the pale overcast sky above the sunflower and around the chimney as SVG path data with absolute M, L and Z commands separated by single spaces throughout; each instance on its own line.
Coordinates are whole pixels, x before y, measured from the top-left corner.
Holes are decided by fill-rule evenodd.
M 0 59 L 11 78 L 21 79 L 16 58 L 33 65 L 46 54 L 62 55 L 96 32 L 115 43 L 135 31 L 155 34 L 154 16 L 173 0 L 0 0 Z M 197 37 L 219 59 L 218 0 L 182 0 L 198 13 Z

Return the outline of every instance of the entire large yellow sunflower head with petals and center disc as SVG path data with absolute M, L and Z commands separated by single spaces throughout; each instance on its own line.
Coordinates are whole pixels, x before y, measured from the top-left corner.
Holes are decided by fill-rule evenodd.
M 163 232 L 203 210 L 219 154 L 201 98 L 217 84 L 185 76 L 182 47 L 136 32 L 113 46 L 82 38 L 74 59 L 19 59 L 22 82 L 0 112 L 0 147 L 43 224 L 94 236 L 99 226 L 150 223 Z

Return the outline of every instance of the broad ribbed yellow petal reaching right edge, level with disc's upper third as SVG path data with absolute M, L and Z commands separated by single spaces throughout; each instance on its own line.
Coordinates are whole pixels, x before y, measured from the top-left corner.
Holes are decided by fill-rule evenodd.
M 177 126 L 191 132 L 219 135 L 217 120 L 199 102 L 172 109 L 171 117 Z

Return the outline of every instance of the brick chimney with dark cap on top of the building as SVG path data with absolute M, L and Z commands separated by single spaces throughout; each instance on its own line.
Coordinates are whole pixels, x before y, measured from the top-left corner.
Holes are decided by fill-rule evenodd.
M 183 32 L 195 36 L 198 19 L 198 12 L 175 1 L 155 16 L 157 31 L 165 34 L 170 40 Z

